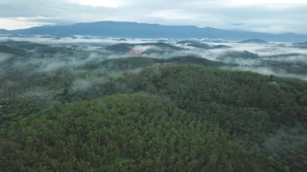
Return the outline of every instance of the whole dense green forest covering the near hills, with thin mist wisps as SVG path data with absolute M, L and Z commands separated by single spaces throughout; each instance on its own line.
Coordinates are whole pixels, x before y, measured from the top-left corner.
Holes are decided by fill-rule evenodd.
M 82 61 L 98 52 L 35 52 L 1 63 L 0 171 L 307 168 L 304 80 L 191 55 Z M 244 54 L 258 58 L 233 55 Z M 30 56 L 35 63 L 18 63 Z M 70 63 L 41 69 L 49 58 Z

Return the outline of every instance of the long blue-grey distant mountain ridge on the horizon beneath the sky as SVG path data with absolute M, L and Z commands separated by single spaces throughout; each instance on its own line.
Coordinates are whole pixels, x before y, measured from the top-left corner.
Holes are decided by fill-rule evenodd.
M 77 23 L 61 26 L 40 26 L 29 29 L 3 30 L 0 34 L 22 35 L 89 35 L 123 38 L 172 38 L 172 39 L 225 39 L 240 41 L 246 39 L 263 39 L 276 42 L 304 42 L 307 35 L 284 33 L 270 34 L 248 31 L 231 31 L 211 27 L 198 28 L 196 26 L 163 26 L 158 24 L 134 22 L 93 22 Z

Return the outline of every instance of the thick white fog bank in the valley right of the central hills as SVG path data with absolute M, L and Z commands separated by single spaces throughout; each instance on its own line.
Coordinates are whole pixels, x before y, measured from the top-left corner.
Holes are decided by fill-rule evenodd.
M 212 45 L 220 45 L 221 43 L 210 43 Z M 227 49 L 210 49 L 204 50 L 200 48 L 189 47 L 185 45 L 175 44 L 184 48 L 189 48 L 189 51 L 185 51 L 187 54 L 195 54 L 203 58 L 207 58 L 214 61 L 222 61 L 225 63 L 237 63 L 240 66 L 237 67 L 223 67 L 223 69 L 230 70 L 243 70 L 252 71 L 265 75 L 276 75 L 283 77 L 295 77 L 299 79 L 307 80 L 307 73 L 289 73 L 283 69 L 274 69 L 272 66 L 262 66 L 266 61 L 276 61 L 286 63 L 289 68 L 302 68 L 307 71 L 307 49 L 300 49 L 291 47 L 290 44 L 286 44 L 286 47 L 275 47 L 276 43 L 270 44 L 239 44 L 239 43 L 222 43 L 233 48 Z M 248 57 L 231 57 L 221 59 L 221 57 L 227 56 L 227 54 L 233 51 L 249 51 L 259 56 L 259 58 L 248 58 Z

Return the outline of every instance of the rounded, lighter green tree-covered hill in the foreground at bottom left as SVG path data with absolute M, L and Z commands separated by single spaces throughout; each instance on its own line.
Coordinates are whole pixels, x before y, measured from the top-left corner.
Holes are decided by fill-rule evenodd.
M 263 170 L 257 145 L 247 149 L 244 140 L 147 94 L 31 115 L 4 135 L 3 170 Z

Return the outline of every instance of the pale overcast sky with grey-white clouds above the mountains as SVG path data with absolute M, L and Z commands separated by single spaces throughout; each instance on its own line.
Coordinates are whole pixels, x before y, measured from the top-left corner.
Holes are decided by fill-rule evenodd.
M 0 28 L 129 21 L 307 34 L 307 0 L 0 0 Z

